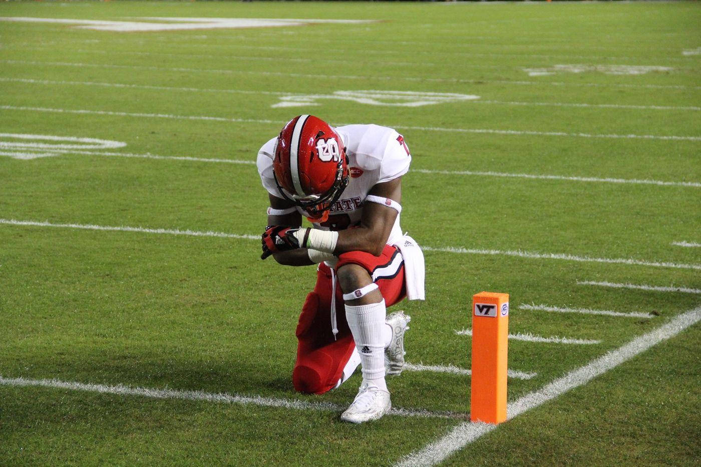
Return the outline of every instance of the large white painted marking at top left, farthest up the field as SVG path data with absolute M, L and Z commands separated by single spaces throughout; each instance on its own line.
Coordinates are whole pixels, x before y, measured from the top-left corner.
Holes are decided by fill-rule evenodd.
M 30 18 L 4 17 L 0 21 L 11 22 L 48 22 L 75 25 L 77 29 L 94 29 L 96 31 L 134 32 L 134 31 L 180 31 L 191 29 L 236 29 L 241 27 L 287 27 L 304 26 L 316 23 L 362 24 L 376 20 L 292 20 L 272 18 L 135 18 L 143 21 L 107 21 L 107 20 L 70 20 L 64 18 Z M 160 21 L 160 22 L 156 22 Z M 163 22 L 170 21 L 170 22 Z

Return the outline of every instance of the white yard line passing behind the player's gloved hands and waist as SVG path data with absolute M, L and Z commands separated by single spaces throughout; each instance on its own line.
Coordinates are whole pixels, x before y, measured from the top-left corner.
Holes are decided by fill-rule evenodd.
M 20 221 L 16 219 L 1 219 L 0 224 L 8 225 L 27 225 L 27 226 L 41 226 L 41 227 L 68 227 L 72 229 L 90 229 L 90 230 L 111 230 L 111 231 L 126 231 L 126 232 L 144 232 L 147 234 L 173 234 L 173 235 L 191 235 L 200 237 L 224 237 L 224 238 L 246 238 L 250 240 L 259 240 L 258 235 L 238 235 L 238 234 L 225 234 L 223 232 L 213 232 L 213 231 L 191 231 L 191 230 L 179 230 L 179 229 L 144 229 L 142 227 L 129 227 L 129 226 L 100 226 L 93 224 L 52 224 L 50 222 L 36 222 L 36 221 Z M 454 248 L 454 247 L 444 247 L 444 248 L 433 248 L 430 246 L 421 247 L 424 251 L 437 251 L 437 252 L 449 252 L 449 253 L 469 253 L 473 255 L 505 255 L 505 256 L 516 256 L 531 259 L 564 259 L 566 261 L 579 261 L 579 262 L 599 262 L 599 263 L 614 263 L 614 264 L 634 264 L 637 266 L 653 266 L 653 267 L 667 267 L 675 269 L 701 269 L 701 264 L 677 264 L 677 263 L 658 263 L 658 262 L 646 262 L 639 261 L 637 259 L 624 259 L 624 258 L 590 258 L 590 257 L 579 257 L 573 255 L 562 255 L 562 254 L 541 254 L 541 253 L 531 253 L 522 251 L 510 251 L 510 250 L 468 250 L 466 248 Z

